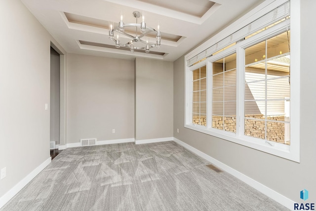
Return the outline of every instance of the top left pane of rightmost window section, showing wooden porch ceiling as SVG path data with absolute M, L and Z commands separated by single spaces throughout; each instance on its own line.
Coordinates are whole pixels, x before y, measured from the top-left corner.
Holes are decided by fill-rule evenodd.
M 260 62 L 266 59 L 266 41 L 260 42 L 245 49 L 245 65 Z

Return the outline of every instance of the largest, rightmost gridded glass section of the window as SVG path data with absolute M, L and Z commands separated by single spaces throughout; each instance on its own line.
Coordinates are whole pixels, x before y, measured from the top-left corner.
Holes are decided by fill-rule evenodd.
M 290 32 L 245 49 L 244 135 L 290 144 Z

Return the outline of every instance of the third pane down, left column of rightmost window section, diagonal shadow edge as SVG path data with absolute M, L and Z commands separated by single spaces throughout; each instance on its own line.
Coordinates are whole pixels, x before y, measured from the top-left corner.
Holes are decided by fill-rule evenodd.
M 245 84 L 245 100 L 261 100 L 266 98 L 266 82 Z

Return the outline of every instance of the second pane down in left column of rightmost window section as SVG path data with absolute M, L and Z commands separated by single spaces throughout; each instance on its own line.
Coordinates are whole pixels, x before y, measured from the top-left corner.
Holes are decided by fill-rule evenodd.
M 263 69 L 261 67 L 263 67 Z M 266 79 L 265 67 L 266 67 L 265 62 L 246 67 L 245 68 L 245 81 L 249 83 L 252 81 L 265 80 Z

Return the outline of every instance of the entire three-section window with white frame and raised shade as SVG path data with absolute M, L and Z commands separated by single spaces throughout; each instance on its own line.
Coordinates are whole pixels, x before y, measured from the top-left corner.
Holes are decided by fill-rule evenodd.
M 186 128 L 299 162 L 299 10 L 273 1 L 186 55 Z

